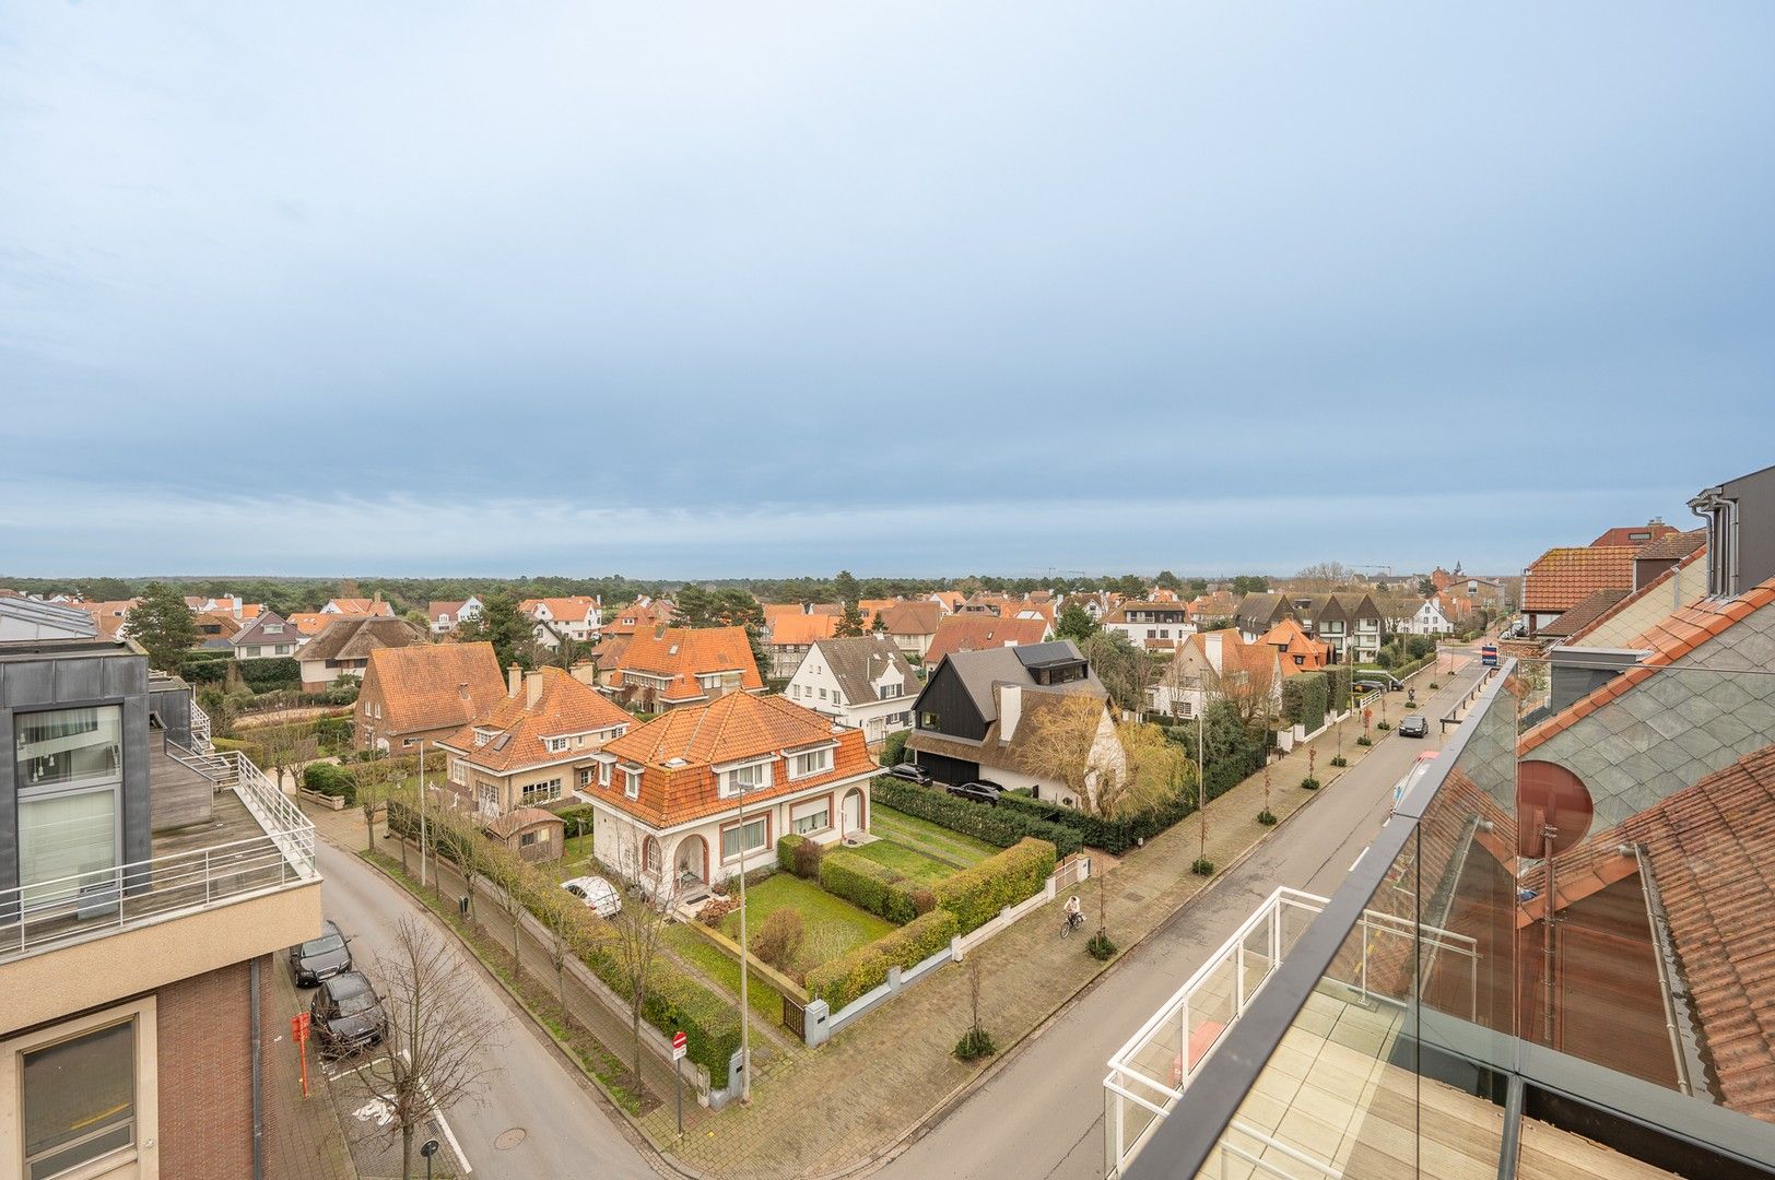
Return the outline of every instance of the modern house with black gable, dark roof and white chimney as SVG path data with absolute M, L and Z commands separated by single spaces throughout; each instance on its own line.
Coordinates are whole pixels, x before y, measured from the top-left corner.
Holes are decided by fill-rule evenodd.
M 1086 754 L 1092 781 L 1124 770 L 1109 694 L 1070 639 L 944 657 L 912 704 L 905 749 L 939 783 L 983 777 L 1077 807 L 1086 800 L 1074 797 L 1033 749 L 1044 717 L 1069 694 L 1102 701 L 1097 742 Z

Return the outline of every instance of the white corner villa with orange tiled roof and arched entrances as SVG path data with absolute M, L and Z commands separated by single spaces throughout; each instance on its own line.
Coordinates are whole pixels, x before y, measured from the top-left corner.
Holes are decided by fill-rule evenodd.
M 747 692 L 657 717 L 595 761 L 595 855 L 680 900 L 774 864 L 788 832 L 822 845 L 866 832 L 879 770 L 861 729 Z

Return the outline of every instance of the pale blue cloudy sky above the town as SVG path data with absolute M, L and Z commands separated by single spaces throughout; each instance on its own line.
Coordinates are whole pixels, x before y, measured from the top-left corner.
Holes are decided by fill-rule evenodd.
M 12 5 L 0 575 L 1519 570 L 1775 463 L 1775 5 Z

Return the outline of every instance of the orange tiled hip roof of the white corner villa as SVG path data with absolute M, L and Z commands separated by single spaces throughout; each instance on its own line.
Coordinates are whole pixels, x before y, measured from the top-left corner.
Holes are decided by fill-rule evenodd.
M 639 729 L 605 743 L 604 752 L 643 767 L 639 798 L 623 795 L 623 774 L 609 788 L 595 788 L 609 806 L 639 816 L 653 827 L 738 811 L 738 798 L 721 798 L 712 767 L 836 742 L 832 768 L 825 774 L 788 779 L 781 758 L 769 790 L 747 791 L 756 806 L 781 795 L 801 793 L 829 783 L 873 774 L 861 729 L 838 729 L 831 720 L 783 697 L 731 692 L 714 704 L 683 708 L 657 717 Z M 676 761 L 682 759 L 682 761 Z M 674 763 L 676 765 L 671 765 Z M 781 832 L 777 832 L 781 836 Z

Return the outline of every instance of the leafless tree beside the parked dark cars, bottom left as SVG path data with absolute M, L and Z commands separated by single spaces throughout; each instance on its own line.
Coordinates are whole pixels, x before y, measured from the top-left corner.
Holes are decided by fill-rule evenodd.
M 401 1176 L 414 1175 L 414 1139 L 433 1113 L 481 1102 L 497 1072 L 499 1010 L 476 994 L 462 960 L 421 919 L 401 917 L 376 956 L 387 1033 L 357 1077 L 389 1111 L 382 1134 L 401 1139 Z

